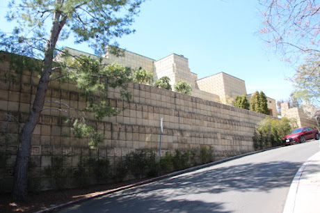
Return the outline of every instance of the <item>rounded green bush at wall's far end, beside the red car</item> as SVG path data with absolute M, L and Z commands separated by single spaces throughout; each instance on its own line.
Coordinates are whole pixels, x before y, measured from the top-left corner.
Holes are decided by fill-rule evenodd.
M 294 122 L 289 118 L 264 118 L 255 129 L 253 147 L 255 150 L 282 145 L 282 138 L 293 129 Z

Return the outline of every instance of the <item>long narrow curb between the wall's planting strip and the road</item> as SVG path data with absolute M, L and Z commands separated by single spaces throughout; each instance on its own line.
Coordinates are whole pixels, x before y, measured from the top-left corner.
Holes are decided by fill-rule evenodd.
M 159 176 L 157 178 L 151 178 L 151 179 L 144 180 L 144 181 L 141 181 L 141 182 L 137 182 L 137 183 L 134 183 L 134 184 L 129 184 L 127 186 L 119 187 L 117 189 L 110 189 L 110 190 L 106 190 L 106 191 L 101 191 L 99 194 L 95 194 L 93 196 L 88 196 L 87 198 L 81 198 L 79 200 L 72 200 L 70 202 L 63 203 L 61 205 L 56 205 L 54 207 L 49 207 L 49 208 L 47 208 L 45 210 L 40 210 L 40 211 L 35 212 L 35 213 L 54 212 L 54 211 L 57 211 L 57 210 L 61 210 L 61 209 L 65 208 L 65 207 L 69 207 L 71 205 L 75 205 L 77 203 L 83 203 L 83 202 L 85 202 L 87 200 L 91 200 L 93 198 L 97 198 L 97 197 L 104 196 L 104 195 L 107 195 L 107 194 L 113 194 L 113 193 L 115 193 L 117 191 L 122 191 L 122 190 L 125 190 L 125 189 L 131 189 L 133 187 L 138 187 L 138 186 L 141 186 L 143 184 L 156 182 L 157 180 L 163 180 L 165 178 L 170 178 L 170 177 L 173 177 L 173 176 L 181 175 L 183 173 L 188 173 L 188 172 L 191 172 L 191 171 L 197 171 L 197 170 L 199 170 L 201 168 L 206 168 L 206 167 L 209 167 L 209 166 L 222 164 L 222 163 L 227 162 L 227 161 L 231 161 L 231 160 L 234 160 L 234 159 L 239 159 L 241 157 L 246 157 L 248 155 L 254 155 L 254 154 L 259 153 L 259 152 L 265 152 L 265 151 L 273 150 L 273 149 L 280 148 L 280 147 L 282 147 L 282 146 L 276 146 L 276 147 L 267 148 L 267 149 L 264 149 L 264 150 L 257 150 L 255 152 L 248 152 L 248 153 L 245 153 L 245 154 L 242 154 L 242 155 L 237 155 L 237 156 L 234 156 L 234 157 L 228 157 L 226 159 L 221 159 L 221 160 L 218 160 L 218 161 L 214 161 L 214 162 L 211 162 L 209 164 L 203 164 L 203 165 L 195 166 L 195 167 L 192 167 L 192 168 L 186 168 L 186 169 L 184 169 L 182 171 L 176 171 L 176 172 L 169 173 L 169 174 L 166 174 L 166 175 L 161 175 L 161 176 Z

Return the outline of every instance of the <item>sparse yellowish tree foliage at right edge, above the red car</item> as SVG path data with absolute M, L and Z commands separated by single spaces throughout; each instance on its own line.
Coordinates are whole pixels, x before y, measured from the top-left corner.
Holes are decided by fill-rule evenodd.
M 320 54 L 307 56 L 291 81 L 294 83 L 295 98 L 320 106 Z

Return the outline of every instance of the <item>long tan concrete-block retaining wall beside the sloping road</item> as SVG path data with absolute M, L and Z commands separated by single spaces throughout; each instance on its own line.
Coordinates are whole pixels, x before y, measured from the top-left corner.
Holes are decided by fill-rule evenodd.
M 28 118 L 39 73 L 24 70 L 22 74 L 16 74 L 10 70 L 10 58 L 4 52 L 0 56 L 0 153 L 6 157 L 6 165 L 2 167 L 4 171 L 0 173 L 2 180 L 10 181 L 18 132 Z M 8 81 L 8 73 L 14 75 L 15 80 Z M 218 160 L 253 151 L 255 126 L 266 117 L 253 111 L 143 84 L 130 84 L 129 90 L 133 95 L 129 103 L 120 100 L 119 90 L 109 91 L 110 104 L 125 107 L 125 111 L 118 116 L 97 121 L 93 113 L 86 113 L 87 118 L 97 125 L 98 131 L 104 132 L 104 142 L 92 149 L 88 146 L 88 139 L 74 137 L 70 126 L 64 122 L 67 116 L 75 115 L 73 110 L 64 105 L 61 107 L 67 113 L 50 109 L 57 107 L 52 103 L 55 101 L 64 102 L 71 108 L 85 107 L 86 100 L 81 96 L 81 91 L 74 84 L 51 81 L 46 99 L 50 102 L 45 103 L 47 110 L 42 111 L 31 146 L 31 161 L 35 167 L 31 175 L 34 180 L 38 178 L 42 188 L 51 187 L 44 174 L 45 168 L 51 165 L 51 155 L 70 155 L 65 166 L 74 169 L 80 156 L 107 157 L 115 166 L 129 152 L 145 148 L 158 150 L 161 118 L 161 155 L 175 149 L 191 150 L 211 145 Z

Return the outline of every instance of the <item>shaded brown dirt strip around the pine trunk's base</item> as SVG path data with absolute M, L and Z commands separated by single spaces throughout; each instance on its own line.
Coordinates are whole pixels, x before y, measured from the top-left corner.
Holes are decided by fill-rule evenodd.
M 10 194 L 0 194 L 0 213 L 3 212 L 37 212 L 49 207 L 61 205 L 72 200 L 79 200 L 88 196 L 93 196 L 101 191 L 117 189 L 129 184 L 141 182 L 143 180 L 131 180 L 116 184 L 93 185 L 86 189 L 64 189 L 61 191 L 41 191 L 37 194 L 29 194 L 24 202 L 15 202 L 10 198 Z

